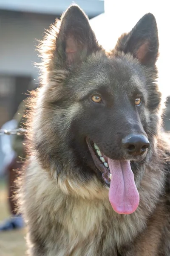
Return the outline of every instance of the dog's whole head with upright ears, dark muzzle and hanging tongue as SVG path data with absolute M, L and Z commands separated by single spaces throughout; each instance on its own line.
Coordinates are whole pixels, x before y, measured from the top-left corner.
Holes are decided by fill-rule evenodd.
M 161 100 L 155 84 L 158 47 L 156 20 L 147 14 L 107 54 L 87 17 L 71 6 L 41 48 L 44 85 L 34 137 L 40 161 L 75 183 L 97 177 L 110 187 L 119 213 L 138 206 L 135 183 L 154 152 Z M 117 195 L 125 190 L 135 196 Z

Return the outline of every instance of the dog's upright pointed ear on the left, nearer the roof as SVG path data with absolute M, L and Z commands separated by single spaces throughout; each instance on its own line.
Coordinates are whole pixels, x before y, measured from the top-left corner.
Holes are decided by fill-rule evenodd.
M 69 67 L 98 49 L 88 17 L 78 6 L 69 7 L 62 15 L 56 38 L 57 65 Z

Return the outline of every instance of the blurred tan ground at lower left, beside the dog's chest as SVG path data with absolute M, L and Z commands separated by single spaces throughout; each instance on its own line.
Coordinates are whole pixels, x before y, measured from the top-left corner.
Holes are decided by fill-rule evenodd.
M 8 217 L 6 183 L 0 181 L 0 221 Z M 0 256 L 26 255 L 26 230 L 6 231 L 0 233 Z

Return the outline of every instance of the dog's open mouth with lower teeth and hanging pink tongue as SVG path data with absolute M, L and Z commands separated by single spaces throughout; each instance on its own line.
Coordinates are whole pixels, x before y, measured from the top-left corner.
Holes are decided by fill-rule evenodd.
M 86 139 L 95 166 L 109 186 L 109 201 L 115 212 L 130 214 L 139 205 L 139 193 L 131 170 L 130 160 L 114 160 L 105 156 L 99 146 Z

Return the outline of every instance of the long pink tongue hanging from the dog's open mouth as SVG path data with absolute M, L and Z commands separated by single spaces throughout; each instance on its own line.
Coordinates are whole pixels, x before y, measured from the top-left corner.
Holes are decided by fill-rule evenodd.
M 111 160 L 108 158 L 111 177 L 109 201 L 115 212 L 130 214 L 139 205 L 139 193 L 129 160 Z

